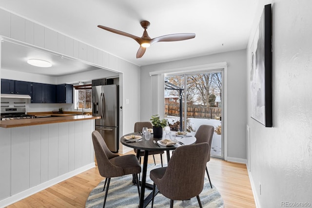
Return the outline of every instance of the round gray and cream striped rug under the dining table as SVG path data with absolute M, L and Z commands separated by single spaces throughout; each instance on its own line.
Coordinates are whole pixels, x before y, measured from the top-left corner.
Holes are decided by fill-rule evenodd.
M 160 168 L 160 164 L 148 164 L 147 169 L 147 183 L 153 184 L 149 178 L 149 172 L 155 168 Z M 96 188 L 94 188 L 87 199 L 86 208 L 102 208 L 104 202 L 105 191 L 103 190 L 105 179 L 102 180 Z M 106 189 L 105 189 L 106 190 Z M 145 190 L 145 197 L 152 190 Z M 201 204 L 204 208 L 223 208 L 223 200 L 214 187 L 211 189 L 207 175 L 205 175 L 205 184 L 203 191 L 199 194 Z M 125 175 L 122 177 L 112 178 L 108 189 L 105 208 L 137 208 L 139 197 L 137 193 L 137 186 L 132 184 L 132 175 Z M 148 204 L 147 208 L 151 207 Z M 164 197 L 160 192 L 155 196 L 154 208 L 170 207 L 170 199 Z M 196 197 L 185 201 L 174 201 L 174 208 L 198 208 Z

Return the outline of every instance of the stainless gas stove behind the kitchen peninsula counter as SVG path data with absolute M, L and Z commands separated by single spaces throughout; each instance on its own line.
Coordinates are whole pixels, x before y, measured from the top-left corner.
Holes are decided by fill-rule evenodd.
M 0 120 L 15 120 L 35 118 L 33 115 L 25 114 L 25 108 L 1 108 Z

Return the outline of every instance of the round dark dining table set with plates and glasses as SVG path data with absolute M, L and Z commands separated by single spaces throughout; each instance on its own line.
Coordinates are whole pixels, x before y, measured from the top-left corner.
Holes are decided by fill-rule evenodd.
M 151 134 L 151 138 L 146 140 L 145 136 L 141 132 L 132 132 L 123 135 L 120 138 L 121 144 L 137 149 L 137 159 L 139 159 L 140 151 L 144 150 L 144 160 L 143 160 L 143 169 L 142 169 L 142 180 L 141 180 L 141 191 L 140 191 L 140 200 L 139 200 L 139 208 L 145 208 L 153 198 L 153 191 L 144 198 L 145 196 L 145 188 L 148 187 L 150 189 L 153 188 L 153 185 L 146 183 L 146 175 L 147 175 L 147 161 L 148 161 L 148 153 L 149 151 L 166 151 L 167 154 L 167 162 L 170 160 L 170 151 L 175 150 L 176 148 L 182 145 L 190 145 L 196 142 L 196 138 L 194 135 L 187 133 L 186 135 L 178 135 L 176 133 L 176 138 L 173 139 L 176 141 L 175 145 L 166 146 L 163 145 L 160 140 L 162 139 L 170 139 L 169 134 L 163 132 L 162 138 L 155 138 L 153 133 Z M 129 136 L 136 137 L 137 139 L 129 139 Z M 140 138 L 141 137 L 141 138 Z M 126 139 L 128 138 L 128 139 Z M 155 191 L 155 195 L 158 190 Z

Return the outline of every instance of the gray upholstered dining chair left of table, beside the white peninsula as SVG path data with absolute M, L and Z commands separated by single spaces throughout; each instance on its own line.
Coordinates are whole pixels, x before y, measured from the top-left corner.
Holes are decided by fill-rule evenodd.
M 137 161 L 137 157 L 134 154 L 119 156 L 118 154 L 111 152 L 98 131 L 92 132 L 92 141 L 98 162 L 99 174 L 106 178 L 105 185 L 107 182 L 103 208 L 105 207 L 109 184 L 112 177 L 133 174 L 137 183 L 138 195 L 140 196 L 137 174 L 141 172 L 141 165 Z

